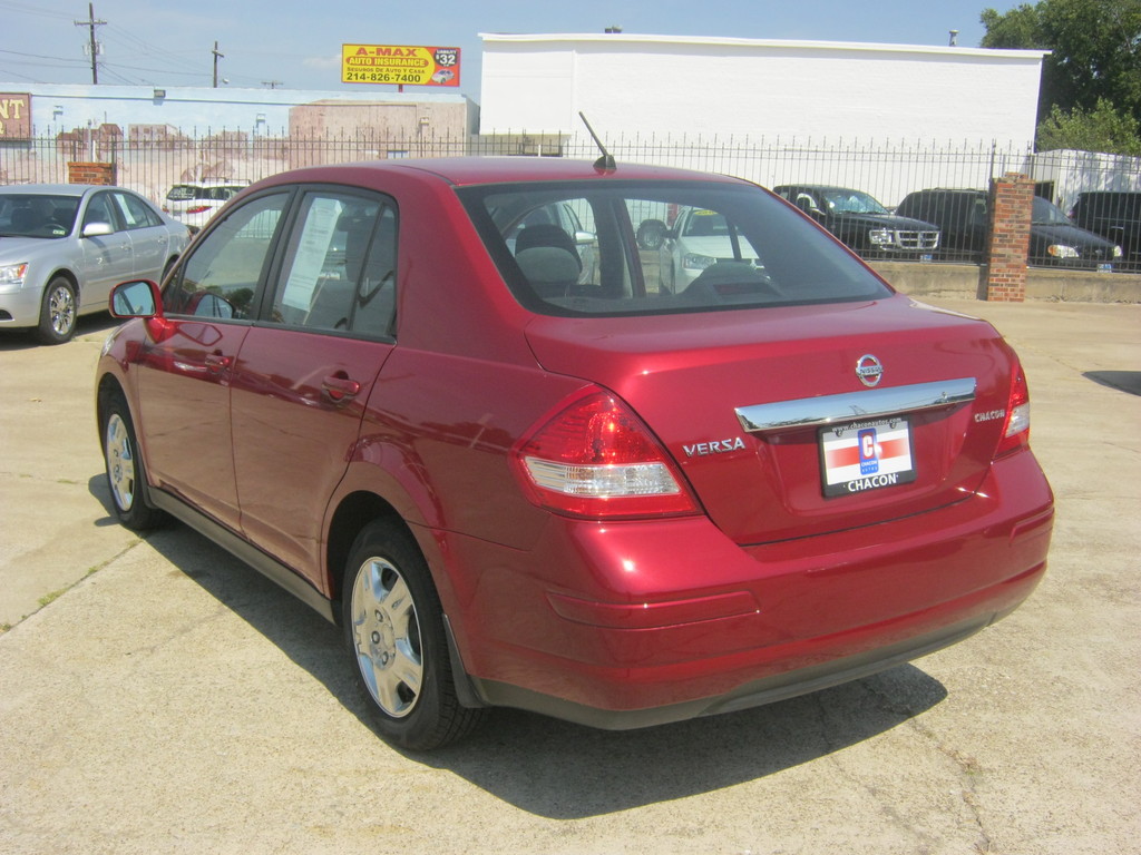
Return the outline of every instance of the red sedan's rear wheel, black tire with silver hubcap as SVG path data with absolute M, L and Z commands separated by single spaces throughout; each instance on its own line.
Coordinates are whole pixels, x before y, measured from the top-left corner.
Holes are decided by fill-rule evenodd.
M 345 643 L 385 739 L 429 751 L 470 733 L 486 710 L 460 706 L 443 609 L 412 536 L 375 521 L 361 530 L 341 587 Z

